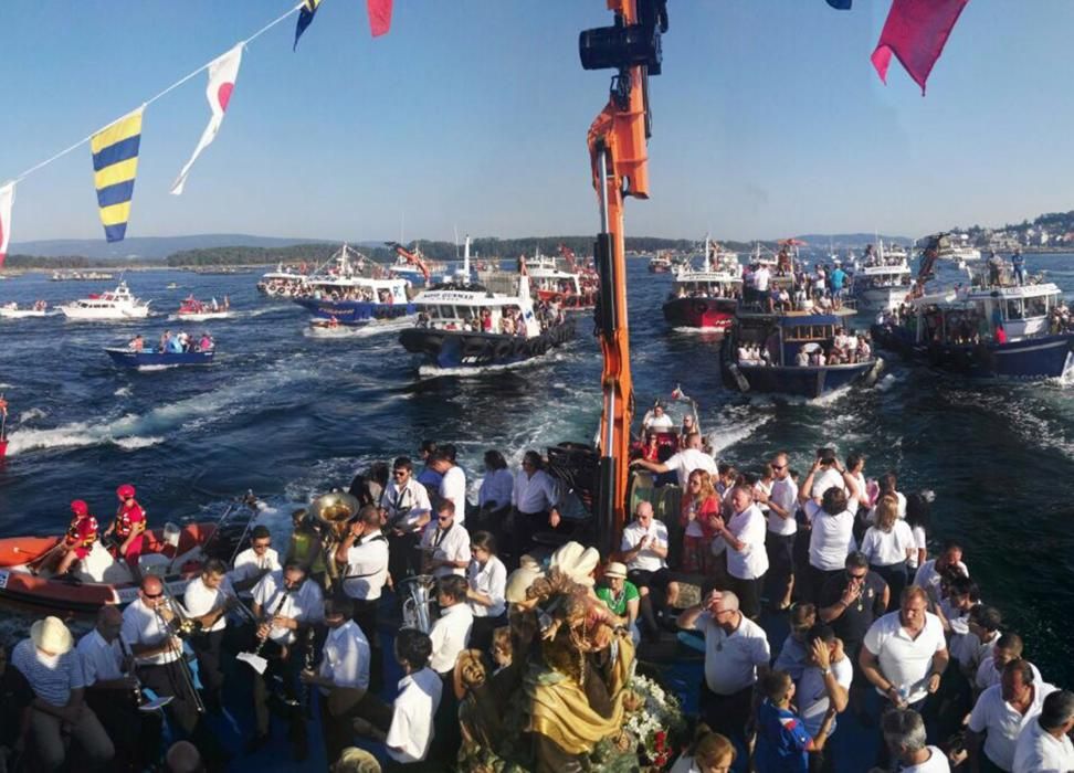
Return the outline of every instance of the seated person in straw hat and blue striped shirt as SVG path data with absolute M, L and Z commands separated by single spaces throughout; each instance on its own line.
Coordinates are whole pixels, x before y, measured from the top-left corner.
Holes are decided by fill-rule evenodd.
M 85 703 L 86 680 L 72 636 L 59 617 L 49 616 L 30 627 L 30 638 L 11 650 L 11 665 L 25 677 L 35 696 L 23 722 L 29 726 L 36 765 L 28 770 L 60 770 L 66 758 L 64 737 L 77 741 L 84 756 L 71 760 L 70 770 L 104 769 L 115 756 L 112 739 L 97 714 Z

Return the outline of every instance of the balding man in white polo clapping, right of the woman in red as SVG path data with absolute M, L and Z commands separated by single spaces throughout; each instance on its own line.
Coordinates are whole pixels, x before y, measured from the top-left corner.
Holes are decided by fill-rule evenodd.
M 757 620 L 760 616 L 760 586 L 768 571 L 765 516 L 754 502 L 754 491 L 747 485 L 731 489 L 730 506 L 733 515 L 726 525 L 719 516 L 712 520 L 716 530 L 713 549 L 717 549 L 717 542 L 723 542 L 727 551 L 727 573 L 741 613 Z

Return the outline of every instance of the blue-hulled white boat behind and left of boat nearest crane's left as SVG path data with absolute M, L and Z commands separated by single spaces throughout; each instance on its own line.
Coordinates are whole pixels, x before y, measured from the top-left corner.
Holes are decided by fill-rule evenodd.
M 306 277 L 305 295 L 294 301 L 314 319 L 361 327 L 417 314 L 408 294 L 410 286 L 408 279 L 390 275 L 344 244 L 324 266 Z

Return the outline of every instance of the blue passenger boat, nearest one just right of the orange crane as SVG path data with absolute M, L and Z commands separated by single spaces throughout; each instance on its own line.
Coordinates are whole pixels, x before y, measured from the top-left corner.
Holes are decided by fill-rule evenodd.
M 846 332 L 852 309 L 772 314 L 739 309 L 720 349 L 724 383 L 741 392 L 819 398 L 873 383 L 884 361 Z

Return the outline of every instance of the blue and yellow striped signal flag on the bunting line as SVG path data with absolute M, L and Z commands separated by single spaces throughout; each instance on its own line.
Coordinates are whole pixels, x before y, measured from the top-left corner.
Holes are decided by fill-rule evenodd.
M 93 151 L 93 184 L 97 189 L 101 222 L 109 242 L 120 242 L 127 233 L 134 179 L 138 173 L 138 146 L 141 144 L 144 110 L 144 107 L 139 107 L 102 129 L 90 140 L 90 149 Z

